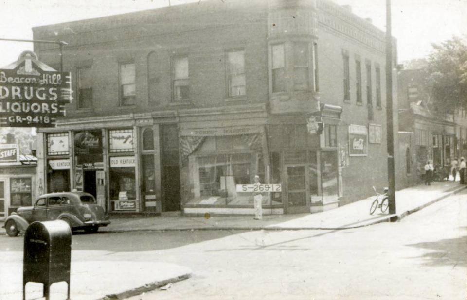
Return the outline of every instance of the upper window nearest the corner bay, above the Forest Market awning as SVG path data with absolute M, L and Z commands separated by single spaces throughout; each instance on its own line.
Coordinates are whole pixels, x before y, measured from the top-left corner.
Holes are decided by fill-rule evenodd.
M 244 50 L 227 52 L 227 83 L 229 97 L 246 94 Z

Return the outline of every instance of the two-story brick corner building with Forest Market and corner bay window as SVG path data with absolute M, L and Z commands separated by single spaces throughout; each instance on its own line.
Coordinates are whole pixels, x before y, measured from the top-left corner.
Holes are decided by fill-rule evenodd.
M 283 214 L 387 184 L 384 33 L 348 7 L 206 0 L 33 30 L 69 43 L 74 74 L 67 117 L 39 134 L 47 191 L 110 212 L 252 214 L 235 185 L 258 174 L 282 184 L 264 213 Z M 53 46 L 35 51 L 58 67 Z

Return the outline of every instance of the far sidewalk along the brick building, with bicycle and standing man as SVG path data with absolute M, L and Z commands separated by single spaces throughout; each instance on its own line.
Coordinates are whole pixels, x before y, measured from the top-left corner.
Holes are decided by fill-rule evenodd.
M 101 232 L 169 231 L 169 230 L 300 230 L 345 229 L 368 226 L 401 219 L 423 207 L 442 200 L 466 188 L 458 182 L 437 182 L 430 186 L 417 185 L 396 191 L 397 214 L 381 214 L 379 209 L 370 215 L 375 196 L 342 207 L 316 214 L 272 215 L 253 220 L 253 216 L 216 217 L 139 217 L 114 218 Z

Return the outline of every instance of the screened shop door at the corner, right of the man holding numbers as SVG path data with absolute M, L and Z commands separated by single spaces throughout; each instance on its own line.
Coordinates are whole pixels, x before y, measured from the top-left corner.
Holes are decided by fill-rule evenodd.
M 287 214 L 309 213 L 310 197 L 306 164 L 286 165 Z

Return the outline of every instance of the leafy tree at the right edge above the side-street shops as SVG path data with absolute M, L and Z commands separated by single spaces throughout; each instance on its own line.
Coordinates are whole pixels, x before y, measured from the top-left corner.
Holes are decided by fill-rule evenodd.
M 466 44 L 454 36 L 432 47 L 425 68 L 431 104 L 444 112 L 467 107 Z

